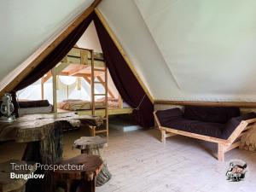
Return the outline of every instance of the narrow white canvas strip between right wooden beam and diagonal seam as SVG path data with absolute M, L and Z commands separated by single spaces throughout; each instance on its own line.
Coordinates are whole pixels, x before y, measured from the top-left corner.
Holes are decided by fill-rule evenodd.
M 98 8 L 154 99 L 169 99 L 173 91 L 182 97 L 133 0 L 104 0 Z

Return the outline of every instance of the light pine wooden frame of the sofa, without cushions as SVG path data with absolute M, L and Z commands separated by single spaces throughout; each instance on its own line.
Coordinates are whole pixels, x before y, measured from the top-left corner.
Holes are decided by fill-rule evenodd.
M 218 160 L 219 161 L 224 161 L 224 154 L 226 152 L 230 151 L 233 148 L 239 147 L 241 142 L 241 136 L 246 134 L 247 131 L 251 129 L 253 127 L 253 124 L 256 122 L 256 118 L 242 120 L 241 123 L 237 125 L 235 131 L 233 131 L 230 137 L 227 140 L 225 140 L 217 137 L 203 136 L 203 135 L 192 133 L 192 132 L 180 131 L 177 129 L 164 127 L 160 125 L 160 120 L 156 115 L 156 111 L 154 111 L 154 119 L 160 130 L 160 135 L 161 135 L 160 141 L 162 143 L 166 143 L 166 137 L 172 137 L 175 135 L 193 137 L 193 138 L 201 139 L 207 142 L 218 143 Z

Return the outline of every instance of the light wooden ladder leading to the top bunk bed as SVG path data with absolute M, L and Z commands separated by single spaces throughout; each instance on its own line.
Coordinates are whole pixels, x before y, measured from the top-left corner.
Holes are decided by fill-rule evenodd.
M 96 96 L 104 96 L 105 97 L 105 105 L 103 107 L 104 115 L 103 115 L 103 127 L 101 130 L 96 130 L 96 127 L 92 127 L 92 135 L 96 136 L 98 133 L 105 133 L 108 139 L 108 68 L 105 66 L 103 69 L 96 68 L 94 66 L 94 51 L 90 50 L 91 54 L 91 78 L 90 78 L 90 87 L 91 87 L 91 114 L 96 115 Z M 104 73 L 104 81 L 98 82 L 96 81 L 96 72 Z M 95 84 L 102 84 L 104 87 L 104 93 L 95 93 Z

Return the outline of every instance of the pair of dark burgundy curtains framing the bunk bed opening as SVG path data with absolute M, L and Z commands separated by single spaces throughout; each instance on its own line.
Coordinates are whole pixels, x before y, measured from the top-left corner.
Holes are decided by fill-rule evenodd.
M 96 25 L 96 32 L 100 39 L 102 51 L 108 66 L 108 70 L 113 79 L 120 96 L 127 102 L 133 110 L 135 119 L 139 125 L 149 127 L 154 125 L 153 110 L 154 105 L 150 102 L 148 96 L 138 83 L 136 77 L 131 72 L 130 67 L 119 53 L 119 49 L 113 43 L 112 38 L 109 37 L 105 27 L 102 26 L 101 20 L 98 19 L 95 13 L 89 15 L 61 44 L 59 44 L 38 67 L 35 67 L 26 79 L 23 79 L 20 84 L 15 87 L 15 91 L 22 90 L 28 85 L 33 84 L 45 73 L 61 61 L 67 55 L 68 51 L 73 48 L 74 44 L 83 35 L 90 22 L 94 20 Z

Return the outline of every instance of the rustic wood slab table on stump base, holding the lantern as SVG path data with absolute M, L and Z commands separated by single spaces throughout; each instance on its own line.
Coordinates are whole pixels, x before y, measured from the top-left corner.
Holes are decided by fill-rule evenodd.
M 101 117 L 75 113 L 29 114 L 20 117 L 13 123 L 0 122 L 0 142 L 27 143 L 22 160 L 46 165 L 55 164 L 62 158 L 62 128 L 65 126 L 78 127 L 81 123 L 99 126 L 102 125 L 103 120 Z M 48 175 L 43 170 L 37 172 Z M 50 184 L 45 183 L 45 181 L 51 183 L 50 178 L 46 180 L 35 181 L 32 179 L 27 183 L 31 186 L 27 191 L 34 192 L 34 187 L 37 188 L 37 192 L 51 191 Z

